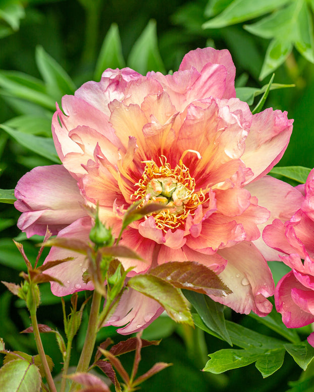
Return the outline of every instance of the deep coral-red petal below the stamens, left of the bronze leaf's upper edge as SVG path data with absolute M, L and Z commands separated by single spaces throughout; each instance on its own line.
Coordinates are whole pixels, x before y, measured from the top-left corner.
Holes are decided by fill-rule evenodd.
M 146 272 L 150 268 L 153 251 L 156 246 L 155 242 L 139 235 L 138 230 L 127 228 L 124 230 L 119 244 L 129 247 L 142 257 L 142 260 L 126 257 L 119 258 L 125 270 L 134 267 L 129 276 L 139 272 Z

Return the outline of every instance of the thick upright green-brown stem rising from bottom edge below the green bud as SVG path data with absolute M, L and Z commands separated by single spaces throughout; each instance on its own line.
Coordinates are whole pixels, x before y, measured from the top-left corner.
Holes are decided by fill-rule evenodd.
M 96 335 L 98 330 L 98 315 L 101 302 L 101 294 L 96 290 L 93 293 L 91 302 L 88 326 L 86 331 L 86 338 L 81 352 L 80 360 L 76 368 L 76 372 L 86 372 L 90 363 L 90 359 L 94 350 Z M 76 390 L 76 386 L 72 385 L 71 391 Z

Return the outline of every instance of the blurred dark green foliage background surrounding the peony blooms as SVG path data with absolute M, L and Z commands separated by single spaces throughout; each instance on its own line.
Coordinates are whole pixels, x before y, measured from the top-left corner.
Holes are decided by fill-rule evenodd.
M 255 6 L 250 6 L 253 3 Z M 74 93 L 89 80 L 99 81 L 106 68 L 128 66 L 142 74 L 150 70 L 176 71 L 186 52 L 205 46 L 230 50 L 237 69 L 237 87 L 259 89 L 269 82 L 273 71 L 274 83 L 295 85 L 271 91 L 266 107 L 287 110 L 289 118 L 294 118 L 291 142 L 280 166 L 312 168 L 313 3 L 307 0 L 0 0 L 0 188 L 13 189 L 31 168 L 58 162 L 50 122 L 55 102 L 60 104 L 64 94 Z M 231 6 L 236 13 L 232 14 Z M 255 98 L 252 108 L 258 99 Z M 25 267 L 12 238 L 25 240 L 26 237 L 16 227 L 19 213 L 12 204 L 1 204 L 0 213 L 1 280 L 19 282 L 18 272 Z M 23 241 L 30 257 L 35 258 L 33 243 L 39 240 Z M 284 267 L 275 271 L 277 280 L 284 275 Z M 254 331 L 276 336 L 253 318 L 232 312 L 226 317 Z M 29 326 L 26 309 L 4 286 L 0 287 L 0 318 L 0 337 L 8 348 L 34 353 L 32 336 L 19 335 L 19 331 Z M 62 331 L 60 299 L 52 296 L 44 285 L 38 319 Z M 300 334 L 304 339 L 308 329 L 304 329 L 304 335 L 302 331 Z M 103 330 L 100 335 L 99 342 L 108 335 L 115 342 L 125 339 L 113 328 Z M 254 365 L 213 375 L 200 369 L 208 360 L 208 353 L 228 348 L 227 343 L 198 329 L 175 325 L 167 317 L 156 320 L 144 332 L 144 338 L 163 338 L 163 341 L 157 348 L 142 351 L 140 370 L 146 371 L 156 361 L 172 362 L 174 366 L 143 384 L 143 390 L 314 391 L 313 366 L 301 375 L 288 354 L 284 366 L 265 379 Z M 51 339 L 43 335 L 57 374 L 62 367 L 61 355 Z M 73 364 L 83 339 L 79 335 L 75 342 Z M 131 367 L 132 355 L 126 355 L 125 361 Z M 295 386 L 289 383 L 300 375 Z

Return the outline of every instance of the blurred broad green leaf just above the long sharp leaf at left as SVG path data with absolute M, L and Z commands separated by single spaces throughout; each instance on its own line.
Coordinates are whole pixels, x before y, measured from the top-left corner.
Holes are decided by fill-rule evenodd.
M 11 128 L 23 132 L 24 134 L 42 135 L 51 137 L 51 117 L 22 115 L 13 117 L 4 122 Z

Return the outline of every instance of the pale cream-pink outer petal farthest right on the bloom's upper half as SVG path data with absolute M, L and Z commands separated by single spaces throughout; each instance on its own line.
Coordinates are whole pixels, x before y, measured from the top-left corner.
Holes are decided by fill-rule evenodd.
M 267 174 L 281 159 L 292 133 L 287 112 L 265 109 L 253 115 L 242 160 L 254 173 L 253 181 Z

